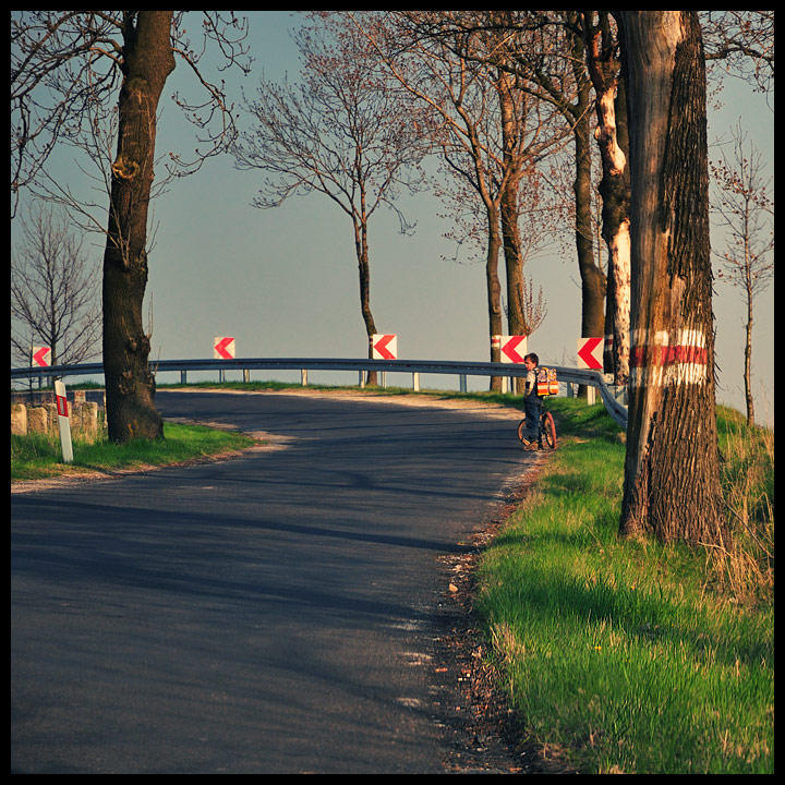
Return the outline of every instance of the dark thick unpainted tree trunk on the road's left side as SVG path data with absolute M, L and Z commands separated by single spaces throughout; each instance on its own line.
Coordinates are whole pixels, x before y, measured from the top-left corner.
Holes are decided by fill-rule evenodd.
M 171 11 L 140 11 L 123 32 L 118 152 L 104 254 L 104 373 L 109 438 L 159 438 L 149 337 L 143 325 L 147 285 L 147 213 L 155 160 L 156 111 L 174 69 Z

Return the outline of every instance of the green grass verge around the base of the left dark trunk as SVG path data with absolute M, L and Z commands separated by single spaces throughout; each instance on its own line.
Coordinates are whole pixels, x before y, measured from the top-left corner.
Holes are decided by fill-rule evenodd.
M 78 474 L 85 471 L 119 471 L 145 466 L 169 466 L 245 449 L 254 439 L 242 433 L 202 425 L 164 424 L 164 438 L 135 439 L 117 445 L 75 439 L 73 463 L 62 463 L 58 437 L 11 436 L 11 481 Z

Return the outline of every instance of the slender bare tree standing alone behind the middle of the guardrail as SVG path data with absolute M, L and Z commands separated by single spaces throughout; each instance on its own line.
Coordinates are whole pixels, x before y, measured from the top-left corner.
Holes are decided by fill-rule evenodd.
M 245 108 L 256 123 L 234 145 L 241 169 L 265 174 L 253 201 L 263 209 L 295 195 L 318 193 L 351 222 L 360 280 L 360 309 L 373 357 L 376 323 L 371 310 L 369 226 L 381 207 L 398 215 L 401 231 L 411 227 L 397 209 L 401 189 L 414 192 L 423 176 L 426 129 L 411 102 L 385 84 L 367 40 L 327 13 L 295 34 L 302 82 L 262 81 Z M 367 382 L 375 385 L 376 372 Z

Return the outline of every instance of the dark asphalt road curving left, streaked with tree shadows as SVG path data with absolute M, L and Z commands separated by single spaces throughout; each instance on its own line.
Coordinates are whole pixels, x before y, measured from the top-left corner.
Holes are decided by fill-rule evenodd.
M 16 773 L 443 773 L 433 618 L 517 419 L 159 392 L 274 448 L 12 493 Z

